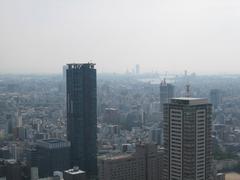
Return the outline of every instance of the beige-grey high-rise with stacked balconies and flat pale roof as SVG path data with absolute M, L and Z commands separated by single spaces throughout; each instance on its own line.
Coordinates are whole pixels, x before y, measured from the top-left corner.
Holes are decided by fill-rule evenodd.
M 174 98 L 164 105 L 163 180 L 212 180 L 212 105 Z

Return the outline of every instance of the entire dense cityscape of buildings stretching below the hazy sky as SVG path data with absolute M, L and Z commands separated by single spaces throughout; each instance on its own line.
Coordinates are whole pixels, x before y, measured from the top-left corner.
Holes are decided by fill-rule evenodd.
M 240 172 L 240 76 L 0 75 L 0 179 L 222 180 Z

